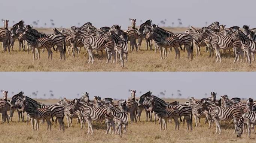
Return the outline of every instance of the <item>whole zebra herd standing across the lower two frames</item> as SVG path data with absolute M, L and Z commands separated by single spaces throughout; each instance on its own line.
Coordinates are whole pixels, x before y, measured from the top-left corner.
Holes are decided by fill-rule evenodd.
M 241 102 L 240 98 L 229 99 L 229 96 L 220 96 L 216 100 L 217 93 L 211 92 L 209 98 L 203 98 L 199 101 L 193 97 L 189 98 L 184 104 L 179 102 L 165 102 L 164 100 L 152 95 L 152 92 L 147 92 L 139 98 L 135 98 L 136 90 L 131 90 L 131 98 L 121 99 L 113 102 L 112 98 L 104 98 L 101 100 L 99 96 L 94 96 L 94 100 L 89 99 L 89 93 L 83 93 L 79 99 L 68 101 L 66 98 L 53 105 L 45 105 L 37 102 L 27 96 L 23 92 L 19 92 L 11 99 L 7 99 L 8 91 L 3 91 L 3 99 L 0 99 L 0 111 L 2 114 L 2 122 L 9 123 L 12 120 L 13 111 L 17 110 L 21 114 L 21 119 L 24 121 L 24 113 L 27 113 L 27 124 L 31 121 L 32 130 L 39 130 L 39 120 L 42 123 L 46 120 L 47 130 L 52 122 L 60 124 L 59 130 L 64 131 L 64 116 L 67 118 L 68 127 L 72 126 L 72 119 L 77 118 L 77 123 L 80 121 L 81 129 L 85 122 L 88 124 L 88 134 L 93 134 L 93 121 L 105 123 L 107 128 L 106 133 L 117 133 L 121 136 L 127 132 L 128 117 L 130 123 L 140 121 L 140 115 L 143 110 L 146 112 L 146 117 L 152 121 L 152 115 L 159 121 L 160 130 L 167 129 L 167 123 L 174 120 L 174 130 L 179 130 L 180 122 L 186 122 L 187 131 L 190 128 L 192 131 L 192 118 L 195 118 L 196 127 L 200 126 L 200 118 L 205 118 L 205 123 L 208 122 L 209 127 L 213 127 L 213 121 L 216 124 L 216 133 L 221 133 L 220 121 L 232 121 L 234 124 L 234 132 L 237 137 L 240 137 L 243 132 L 247 132 L 250 136 L 251 128 L 254 131 L 256 124 L 256 101 L 252 98 L 246 102 Z M 10 111 L 10 115 L 7 115 Z M 128 116 L 129 114 L 129 116 Z M 182 120 L 183 117 L 183 120 Z M 52 122 L 51 122 L 52 120 Z M 135 120 L 135 121 L 134 121 Z M 34 123 L 36 127 L 34 128 Z M 163 125 L 163 128 L 162 128 Z M 247 129 L 245 128 L 247 126 Z

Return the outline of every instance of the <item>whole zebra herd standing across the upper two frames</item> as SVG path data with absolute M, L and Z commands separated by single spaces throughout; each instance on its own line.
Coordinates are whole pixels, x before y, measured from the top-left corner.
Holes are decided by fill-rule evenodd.
M 69 53 L 70 47 L 72 56 L 81 52 L 81 48 L 85 47 L 88 51 L 89 60 L 88 63 L 94 63 L 93 50 L 103 50 L 107 53 L 106 63 L 112 62 L 112 55 L 114 57 L 113 62 L 121 61 L 121 66 L 124 66 L 125 61 L 128 61 L 128 42 L 130 42 L 131 51 L 140 50 L 141 42 L 146 39 L 147 49 L 148 46 L 152 50 L 153 42 L 159 49 L 161 59 L 167 58 L 172 48 L 175 50 L 175 58 L 180 57 L 180 50 L 187 51 L 188 58 L 193 59 L 193 48 L 195 47 L 196 55 L 201 54 L 201 47 L 206 47 L 206 52 L 209 51 L 213 55 L 216 53 L 216 62 L 221 62 L 220 50 L 225 52 L 226 50 L 234 51 L 234 62 L 248 60 L 249 66 L 251 66 L 251 56 L 254 60 L 254 53 L 256 53 L 256 28 L 249 29 L 249 26 L 244 25 L 243 31 L 240 31 L 240 27 L 232 26 L 225 28 L 225 25 L 219 25 L 219 22 L 213 22 L 207 27 L 202 29 L 195 29 L 192 26 L 183 33 L 174 34 L 158 27 L 158 25 L 151 24 L 152 20 L 147 20 L 140 26 L 136 27 L 136 19 L 131 19 L 131 28 L 123 31 L 121 26 L 113 25 L 111 27 L 95 28 L 91 22 L 87 22 L 81 27 L 71 26 L 70 30 L 57 28 L 53 29 L 54 34 L 45 34 L 44 32 L 33 29 L 32 26 L 26 25 L 24 27 L 24 21 L 16 23 L 12 28 L 8 28 L 9 20 L 4 20 L 4 28 L 0 29 L 0 42 L 3 42 L 3 51 L 8 50 L 10 52 L 13 49 L 15 39 L 19 41 L 19 50 L 25 49 L 25 42 L 27 41 L 28 52 L 32 50 L 33 59 L 40 58 L 40 50 L 46 48 L 48 51 L 48 59 L 52 58 L 52 50 L 60 52 L 60 59 L 65 60 L 66 46 Z M 138 40 L 138 44 L 136 42 Z M 183 49 L 182 49 L 183 45 Z M 170 48 L 167 53 L 167 48 Z M 35 57 L 36 54 L 36 57 Z M 162 55 L 164 54 L 164 55 Z M 241 55 L 241 57 L 240 57 Z M 123 57 L 124 56 L 124 57 Z M 240 60 L 241 58 L 241 60 Z

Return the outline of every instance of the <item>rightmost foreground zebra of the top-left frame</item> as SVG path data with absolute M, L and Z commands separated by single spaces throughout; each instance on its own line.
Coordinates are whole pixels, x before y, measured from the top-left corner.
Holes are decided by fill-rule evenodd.
M 125 60 L 127 62 L 128 42 L 122 40 L 115 32 L 110 32 L 110 35 L 116 48 L 116 55 L 117 53 L 119 53 L 120 59 L 121 59 L 121 66 L 124 67 L 123 54 L 125 54 Z M 117 57 L 118 56 L 116 56 L 116 61 L 117 61 Z

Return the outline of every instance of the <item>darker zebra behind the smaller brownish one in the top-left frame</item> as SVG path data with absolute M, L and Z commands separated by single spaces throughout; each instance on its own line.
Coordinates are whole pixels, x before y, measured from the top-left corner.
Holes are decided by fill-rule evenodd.
M 62 59 L 63 56 L 63 60 L 65 61 L 66 57 L 65 57 L 65 52 L 66 52 L 66 46 L 65 46 L 65 37 L 61 34 L 43 34 L 38 32 L 36 29 L 32 29 L 33 27 L 31 27 L 30 25 L 26 26 L 27 28 L 27 32 L 30 33 L 31 35 L 33 35 L 35 38 L 42 38 L 42 37 L 48 37 L 52 40 L 52 47 L 56 46 L 59 51 L 60 51 L 60 60 Z M 63 48 L 64 45 L 64 48 Z M 38 50 L 39 51 L 39 50 Z M 48 51 L 49 53 L 49 51 Z M 38 53 L 39 54 L 39 53 Z

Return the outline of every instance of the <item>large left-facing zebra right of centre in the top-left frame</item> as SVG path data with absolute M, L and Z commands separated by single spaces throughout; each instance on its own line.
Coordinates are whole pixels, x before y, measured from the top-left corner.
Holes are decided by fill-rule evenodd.
M 92 50 L 99 51 L 99 50 L 104 50 L 106 48 L 107 54 L 108 54 L 108 59 L 107 59 L 106 63 L 109 63 L 109 60 L 110 60 L 112 54 L 114 55 L 114 58 L 116 58 L 114 47 L 112 45 L 111 45 L 111 47 L 110 46 L 109 47 L 105 46 L 106 43 L 109 42 L 109 37 L 108 36 L 102 36 L 102 37 L 93 36 L 93 35 L 90 35 L 84 29 L 76 28 L 74 26 L 71 27 L 71 31 L 74 34 L 78 34 L 79 39 L 83 42 L 83 44 L 87 48 L 87 50 L 89 52 L 89 61 L 88 61 L 88 63 L 91 63 L 91 60 L 92 60 L 92 63 L 94 63 Z

